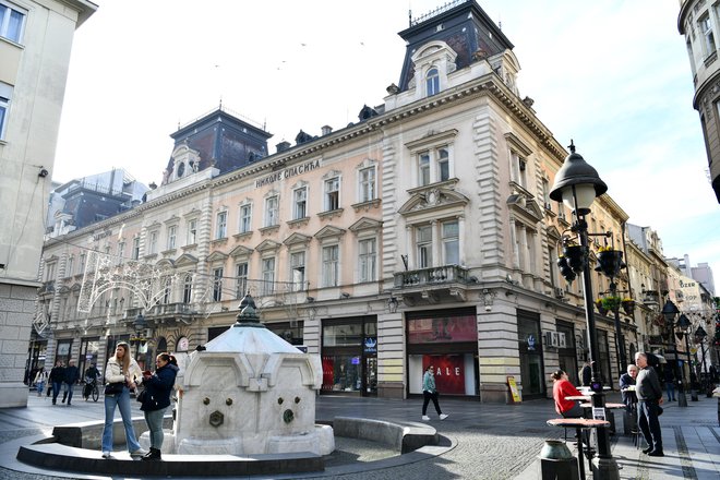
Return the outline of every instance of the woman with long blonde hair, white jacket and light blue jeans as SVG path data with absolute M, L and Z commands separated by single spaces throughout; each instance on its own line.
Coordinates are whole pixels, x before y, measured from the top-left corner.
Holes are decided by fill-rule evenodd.
M 120 341 L 115 349 L 115 356 L 108 360 L 105 368 L 105 428 L 103 429 L 103 458 L 110 458 L 112 453 L 112 422 L 115 408 L 120 409 L 122 423 L 125 428 L 125 441 L 131 456 L 142 456 L 147 452 L 140 447 L 135 430 L 132 428 L 132 411 L 130 409 L 130 389 L 142 382 L 143 372 L 130 355 L 130 346 Z

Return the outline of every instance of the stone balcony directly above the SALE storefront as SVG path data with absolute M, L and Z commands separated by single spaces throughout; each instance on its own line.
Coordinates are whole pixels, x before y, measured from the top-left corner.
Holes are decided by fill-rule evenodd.
M 468 278 L 468 269 L 458 265 L 443 265 L 394 275 L 394 293 L 408 305 L 419 302 L 439 303 L 443 300 L 465 301 L 467 286 L 475 284 Z

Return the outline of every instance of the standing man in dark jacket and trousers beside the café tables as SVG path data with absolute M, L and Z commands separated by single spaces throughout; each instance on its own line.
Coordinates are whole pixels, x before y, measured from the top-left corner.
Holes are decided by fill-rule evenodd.
M 658 412 L 662 404 L 662 387 L 655 369 L 648 364 L 646 353 L 635 353 L 635 363 L 640 368 L 637 374 L 636 389 L 638 400 L 637 425 L 648 443 L 643 453 L 651 457 L 663 457 L 662 434 Z

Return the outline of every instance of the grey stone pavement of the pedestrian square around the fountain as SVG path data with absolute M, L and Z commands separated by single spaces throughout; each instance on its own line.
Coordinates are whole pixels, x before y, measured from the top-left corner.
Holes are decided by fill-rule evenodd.
M 615 396 L 616 394 L 611 393 L 609 401 L 616 400 Z M 393 400 L 320 396 L 316 419 L 329 421 L 335 417 L 345 416 L 420 423 L 421 404 L 421 399 L 415 398 Z M 441 398 L 441 407 L 444 412 L 449 413 L 449 417 L 440 421 L 432 412 L 430 421 L 430 424 L 442 435 L 443 444 L 448 447 L 441 455 L 428 455 L 411 463 L 396 465 L 393 460 L 399 457 L 376 444 L 341 439 L 337 443 L 340 452 L 336 455 L 336 459 L 327 463 L 324 473 L 293 475 L 286 478 L 529 480 L 539 478 L 537 456 L 544 440 L 563 435 L 562 429 L 553 429 L 545 424 L 547 419 L 556 417 L 553 403 L 549 399 L 526 401 L 520 405 L 488 405 L 472 400 Z M 661 459 L 641 455 L 629 440 L 622 435 L 613 436 L 613 456 L 617 457 L 617 463 L 621 465 L 621 478 L 718 478 L 720 428 L 716 411 L 715 398 L 701 397 L 697 403 L 688 401 L 688 408 L 683 409 L 677 408 L 676 404 L 667 406 L 665 413 L 661 418 L 667 456 Z M 136 413 L 140 415 L 140 411 Z M 61 405 L 52 407 L 44 398 L 32 395 L 27 408 L 0 410 L 0 464 L 3 466 L 0 468 L 0 479 L 68 478 L 51 477 L 43 472 L 33 472 L 31 468 L 22 468 L 22 464 L 14 460 L 16 449 L 10 447 L 16 448 L 14 444 L 29 436 L 49 435 L 55 424 L 101 418 L 101 399 L 97 404 L 81 401 L 73 404 L 72 407 Z M 622 432 L 621 419 L 616 420 L 619 431 Z M 676 455 L 669 454 L 675 449 L 679 452 Z M 375 461 L 388 456 L 391 458 Z M 695 460 L 696 458 L 701 461 Z M 348 465 L 358 468 L 358 464 L 362 464 L 360 473 L 343 468 Z M 17 467 L 19 465 L 21 468 Z

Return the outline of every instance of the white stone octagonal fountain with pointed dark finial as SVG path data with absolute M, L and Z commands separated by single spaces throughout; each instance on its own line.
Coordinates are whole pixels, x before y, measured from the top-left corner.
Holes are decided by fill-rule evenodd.
M 333 429 L 315 424 L 320 357 L 301 352 L 260 323 L 249 295 L 236 324 L 190 355 L 178 383 L 164 453 L 322 456 L 335 449 Z

